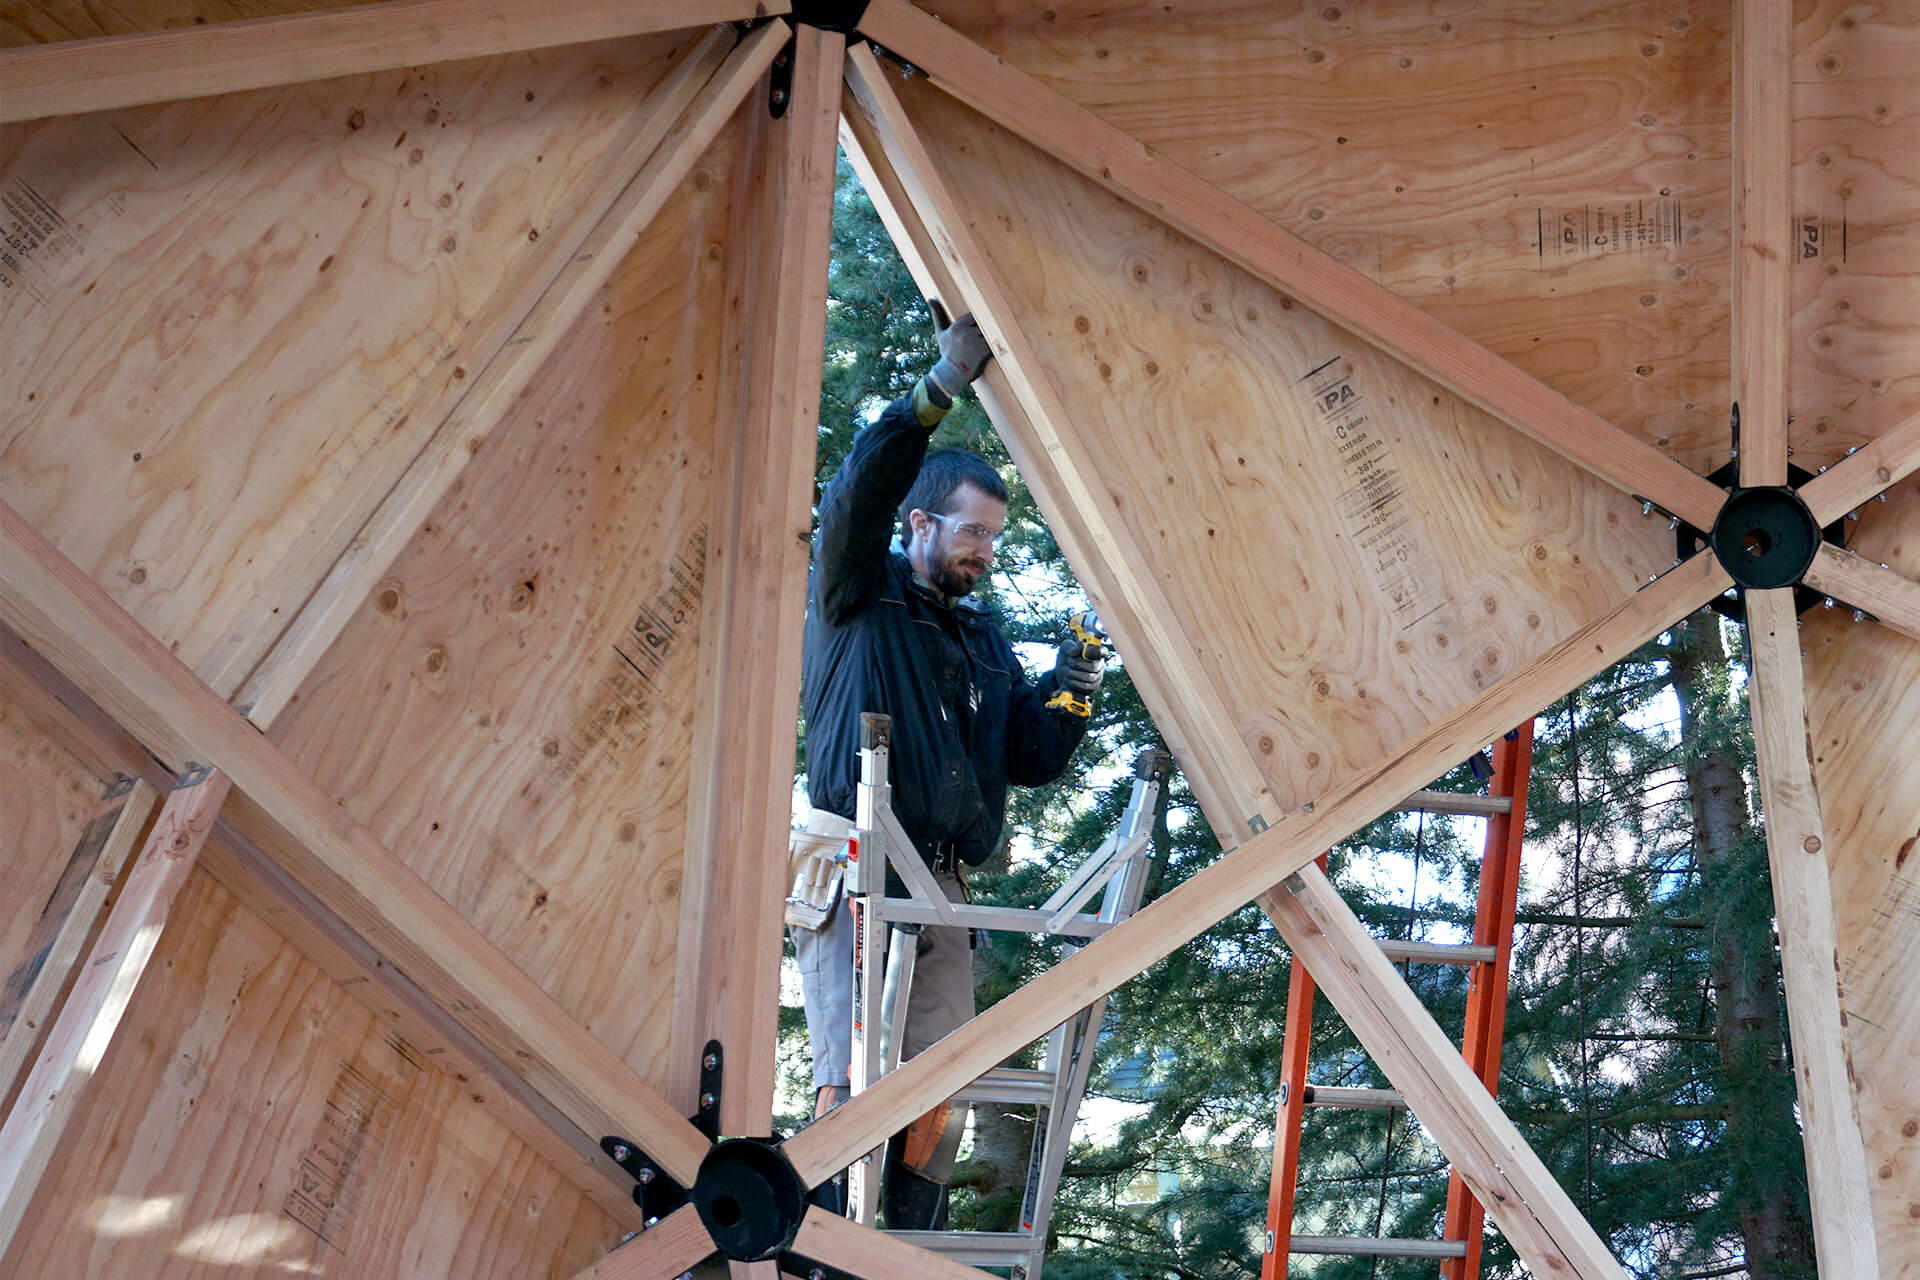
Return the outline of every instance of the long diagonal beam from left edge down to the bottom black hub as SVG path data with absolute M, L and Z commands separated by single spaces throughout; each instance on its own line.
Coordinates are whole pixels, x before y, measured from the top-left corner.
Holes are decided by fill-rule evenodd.
M 161 758 L 219 762 L 234 825 L 578 1128 L 693 1180 L 705 1134 L 4 503 L 0 620 Z

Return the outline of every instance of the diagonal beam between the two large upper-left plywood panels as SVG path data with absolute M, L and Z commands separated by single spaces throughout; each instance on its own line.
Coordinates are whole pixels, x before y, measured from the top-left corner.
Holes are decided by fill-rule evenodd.
M 472 390 L 451 407 L 426 447 L 240 687 L 234 704 L 253 723 L 273 723 L 340 637 L 493 426 L 553 355 L 574 319 L 599 296 L 628 248 L 680 188 L 747 92 L 760 83 L 780 54 L 781 33 L 781 23 L 770 23 L 732 52 L 732 35 L 714 33 L 689 50 L 660 83 L 655 90 L 659 109 L 620 165 L 630 173 L 626 184 L 611 188 L 609 200 L 586 211 L 572 228 L 574 234 L 563 238 L 561 251 L 545 259 L 545 271 L 524 280 L 524 301 L 503 309 L 515 322 L 501 330 L 493 357 L 472 380 Z

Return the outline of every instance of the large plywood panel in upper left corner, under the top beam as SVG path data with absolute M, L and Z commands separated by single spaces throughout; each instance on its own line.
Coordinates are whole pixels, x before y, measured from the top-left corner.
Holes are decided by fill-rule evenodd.
M 0 493 L 230 693 L 478 374 L 676 48 L 6 129 Z

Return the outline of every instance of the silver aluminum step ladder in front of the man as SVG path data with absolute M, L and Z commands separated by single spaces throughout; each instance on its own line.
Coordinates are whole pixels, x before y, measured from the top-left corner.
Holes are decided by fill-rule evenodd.
M 964 929 L 1004 929 L 1089 938 L 1133 915 L 1146 890 L 1148 841 L 1171 756 L 1142 750 L 1135 760 L 1133 794 L 1119 829 L 1081 864 L 1068 883 L 1039 908 L 1002 908 L 948 902 L 933 871 L 914 850 L 893 812 L 887 783 L 887 756 L 893 723 L 887 716 L 860 718 L 860 794 L 854 835 L 849 844 L 847 900 L 854 912 L 854 994 L 852 994 L 852 1080 L 860 1094 L 881 1075 L 900 1065 L 906 1004 L 914 981 L 914 948 L 885 946 L 889 929 L 918 931 L 920 925 Z M 887 867 L 906 887 L 906 896 L 887 892 Z M 1098 910 L 1089 912 L 1094 896 Z M 1068 954 L 1075 948 L 1069 944 Z M 872 963 L 887 956 L 885 973 Z M 891 994 L 891 1002 L 887 996 Z M 874 1017 L 868 1017 L 868 1011 Z M 1100 1038 L 1106 998 L 1054 1027 L 1046 1038 L 1044 1065 L 995 1067 L 958 1094 L 954 1102 L 998 1102 L 1035 1107 L 1033 1153 L 1016 1232 L 889 1232 L 956 1263 L 972 1267 L 1010 1267 L 1014 1280 L 1039 1280 L 1046 1253 L 1046 1224 L 1054 1192 L 1068 1161 L 1073 1123 L 1079 1117 L 1092 1052 Z M 874 1150 L 847 1171 L 849 1217 L 874 1226 L 879 1211 L 879 1171 L 885 1148 Z

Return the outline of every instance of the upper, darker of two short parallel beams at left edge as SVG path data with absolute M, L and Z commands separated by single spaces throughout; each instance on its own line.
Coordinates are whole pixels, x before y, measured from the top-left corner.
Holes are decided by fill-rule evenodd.
M 86 936 L 94 931 L 108 892 L 119 881 L 127 854 L 146 827 L 159 798 L 140 779 L 121 783 L 125 791 L 113 808 L 94 818 L 67 862 L 52 900 L 42 908 L 35 935 L 27 940 L 27 960 L 8 975 L 0 992 L 0 1102 L 13 1096 L 13 1084 L 40 1042 L 40 1031 L 60 1002 L 60 992 L 75 973 Z

